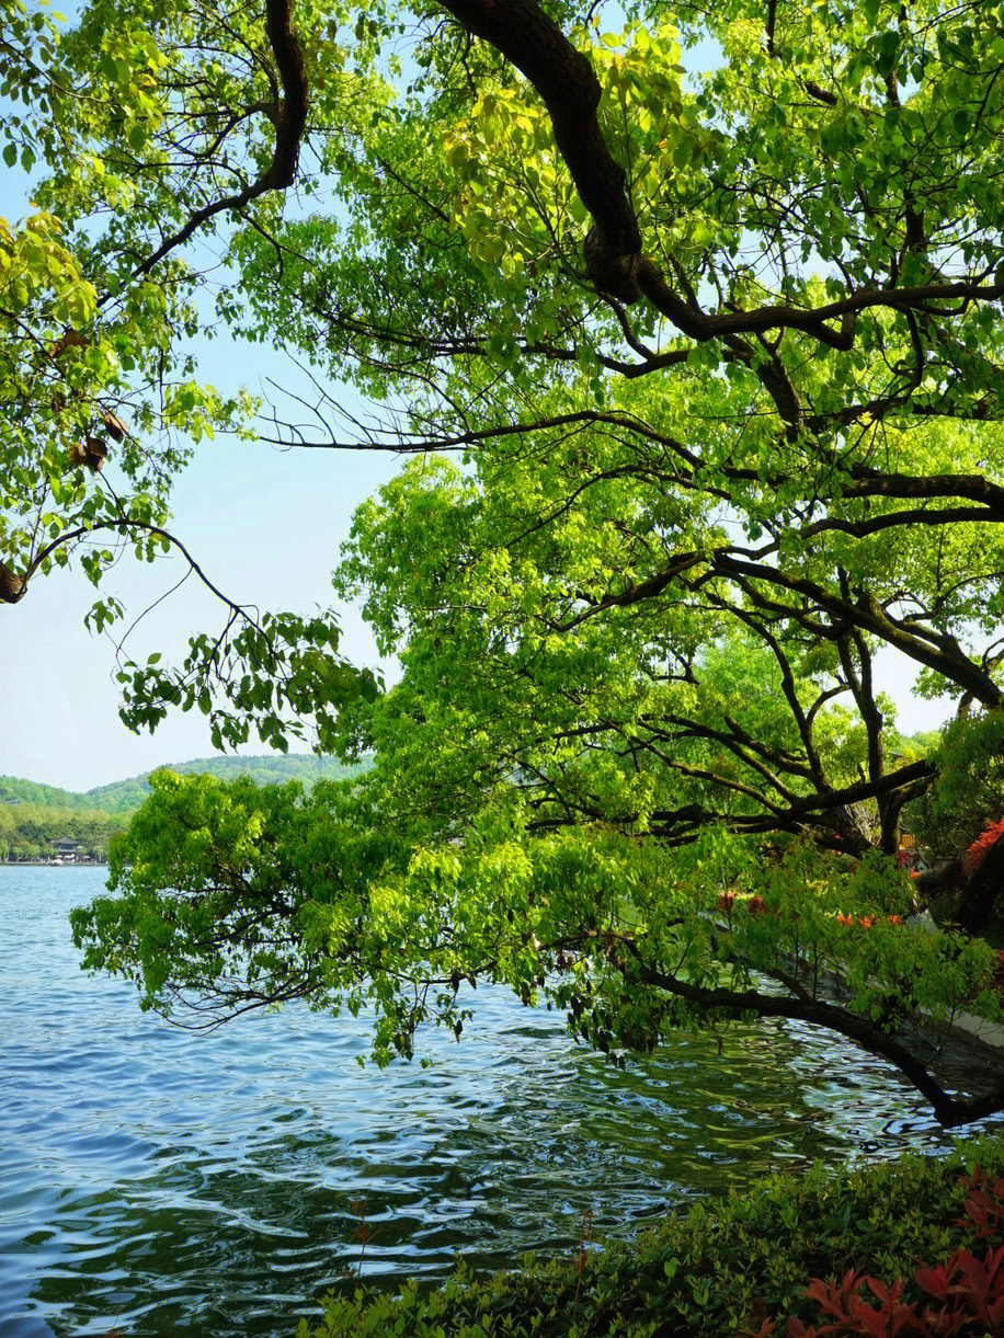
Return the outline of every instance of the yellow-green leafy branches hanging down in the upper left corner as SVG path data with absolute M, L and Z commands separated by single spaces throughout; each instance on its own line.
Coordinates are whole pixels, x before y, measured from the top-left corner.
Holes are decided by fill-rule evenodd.
M 146 561 L 177 550 L 222 601 L 225 626 L 193 637 L 177 673 L 159 656 L 123 669 L 126 701 L 134 677 L 157 684 L 130 723 L 153 727 L 165 702 L 198 705 L 217 743 L 246 739 L 249 719 L 282 747 L 277 712 L 316 706 L 331 736 L 331 705 L 375 688 L 337 661 L 333 621 L 256 618 L 169 529 L 171 480 L 193 444 L 241 429 L 250 409 L 246 396 L 225 401 L 195 377 L 183 345 L 210 320 L 186 246 L 222 219 L 262 226 L 296 177 L 311 90 L 292 5 L 228 15 L 173 0 L 98 3 L 70 32 L 21 0 L 0 12 L 0 92 L 19 108 L 4 118 L 3 157 L 46 170 L 28 218 L 0 219 L 0 603 L 17 603 L 72 555 L 98 585 L 123 547 Z M 308 7 L 300 16 L 332 32 L 339 17 Z M 333 40 L 311 56 L 331 132 L 352 78 Z M 88 622 L 100 632 L 122 615 L 106 597 Z

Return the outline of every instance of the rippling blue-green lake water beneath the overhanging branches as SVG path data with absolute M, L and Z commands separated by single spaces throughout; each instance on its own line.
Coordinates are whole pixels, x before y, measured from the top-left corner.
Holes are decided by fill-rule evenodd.
M 190 1036 L 79 970 L 100 868 L 0 867 L 0 1338 L 292 1338 L 347 1274 L 631 1231 L 770 1168 L 948 1140 L 897 1076 L 788 1025 L 618 1072 L 479 990 L 430 1068 L 360 1070 L 367 1026 L 290 1008 Z M 360 1260 L 359 1219 L 373 1232 Z

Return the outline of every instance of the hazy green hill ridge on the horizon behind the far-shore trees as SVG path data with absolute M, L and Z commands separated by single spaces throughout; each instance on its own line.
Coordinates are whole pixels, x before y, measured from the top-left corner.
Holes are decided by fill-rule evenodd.
M 303 780 L 308 785 L 315 780 L 337 780 L 352 776 L 359 767 L 347 767 L 333 757 L 315 757 L 313 753 L 295 753 L 285 757 L 269 753 L 261 757 L 197 757 L 193 761 L 169 763 L 171 771 L 209 773 L 224 780 L 236 776 L 250 776 L 260 785 L 282 784 L 286 780 Z M 130 814 L 139 808 L 150 793 L 150 772 L 131 776 L 111 785 L 96 785 L 83 793 L 59 789 L 55 785 L 40 785 L 33 780 L 20 780 L 16 776 L 0 776 L 0 804 L 35 804 L 40 808 L 82 809 L 88 812 Z

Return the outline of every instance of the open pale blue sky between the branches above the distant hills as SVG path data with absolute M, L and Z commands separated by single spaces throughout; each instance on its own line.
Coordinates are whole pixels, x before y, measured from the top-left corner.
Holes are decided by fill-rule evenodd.
M 257 391 L 265 375 L 292 384 L 296 369 L 272 349 L 226 341 L 209 345 L 202 360 L 202 379 L 221 391 L 240 384 Z M 387 455 L 203 442 L 177 482 L 174 529 L 232 598 L 304 613 L 328 607 L 335 603 L 331 571 L 352 512 L 398 467 L 398 459 Z M 151 566 L 129 554 L 104 587 L 135 617 L 182 574 L 178 559 Z M 19 605 L 0 613 L 5 702 L 0 773 L 88 789 L 212 752 L 198 712 L 174 714 L 153 737 L 124 728 L 118 719 L 114 646 L 83 626 L 94 598 L 79 571 L 56 571 L 36 579 Z M 127 649 L 138 658 L 153 650 L 179 652 L 189 633 L 220 624 L 220 605 L 193 578 L 142 619 Z M 344 609 L 341 625 L 348 658 L 376 665 L 357 611 Z

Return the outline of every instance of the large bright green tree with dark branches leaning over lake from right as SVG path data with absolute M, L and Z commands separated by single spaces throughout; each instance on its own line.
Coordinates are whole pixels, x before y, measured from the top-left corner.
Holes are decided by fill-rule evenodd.
M 979 942 L 898 923 L 900 814 L 952 761 L 894 756 L 874 657 L 894 648 L 921 690 L 954 694 L 963 752 L 996 728 L 1001 16 L 716 0 L 684 4 L 677 31 L 644 0 L 621 12 L 605 31 L 604 7 L 423 4 L 404 75 L 378 47 L 411 20 L 351 7 L 340 99 L 325 43 L 304 55 L 325 96 L 301 179 L 337 203 L 241 202 L 221 310 L 315 364 L 316 403 L 273 407 L 264 439 L 418 456 L 360 511 L 337 578 L 402 684 L 363 690 L 323 619 L 278 666 L 281 706 L 376 749 L 332 820 L 355 831 L 363 803 L 411 854 L 369 870 L 357 907 L 292 870 L 260 894 L 253 805 L 249 844 L 212 868 L 212 824 L 177 848 L 141 824 L 116 866 L 130 895 L 76 933 L 154 1006 L 218 999 L 224 977 L 229 1001 L 222 945 L 257 963 L 250 994 L 234 967 L 237 1006 L 324 997 L 324 971 L 355 963 L 406 1052 L 406 986 L 415 1017 L 434 987 L 461 1025 L 448 995 L 479 973 L 530 997 L 557 971 L 608 1049 L 684 1017 L 801 1017 L 892 1058 L 945 1123 L 973 1119 L 1004 1093 L 949 1096 L 896 1034 L 917 1008 L 999 1005 Z M 707 75 L 680 64 L 699 40 Z M 328 376 L 375 416 L 343 412 Z M 260 686 L 273 642 L 246 636 L 137 668 L 127 719 L 198 702 L 221 739 L 282 739 Z M 194 801 L 169 795 L 150 823 Z M 295 795 L 274 804 L 281 830 L 303 820 Z M 343 926 L 325 967 L 316 904 L 367 950 Z M 191 937 L 154 951 L 189 914 Z M 404 937 L 373 957 L 384 921 Z M 258 934 L 292 954 L 274 975 Z M 821 993 L 834 966 L 842 1002 Z

